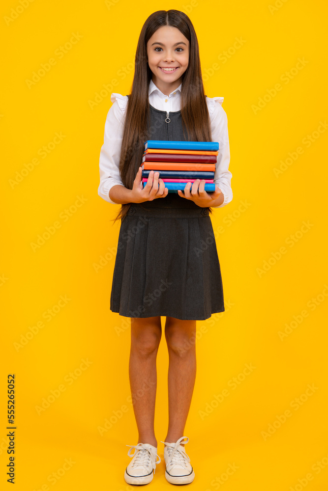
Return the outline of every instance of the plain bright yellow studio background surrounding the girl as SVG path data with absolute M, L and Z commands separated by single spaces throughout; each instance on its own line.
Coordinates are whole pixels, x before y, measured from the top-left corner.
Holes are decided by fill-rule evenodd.
M 211 218 L 214 231 L 224 229 L 217 248 L 229 308 L 197 322 L 197 377 L 185 429 L 196 474 L 190 486 L 328 489 L 328 132 L 313 133 L 328 119 L 327 4 L 277 0 L 274 10 L 273 0 L 187 1 L 36 0 L 25 8 L 18 8 L 18 0 L 2 3 L 1 489 L 11 489 L 9 373 L 16 377 L 16 490 L 132 489 L 123 479 L 130 462 L 125 445 L 138 439 L 128 402 L 129 319 L 109 308 L 119 234 L 119 222 L 111 220 L 119 205 L 98 196 L 98 163 L 110 94 L 130 91 L 141 27 L 153 11 L 170 8 L 184 10 L 194 24 L 206 94 L 224 97 L 234 192 L 233 201 Z M 16 18 L 6 21 L 10 15 Z M 56 55 L 72 33 L 82 37 Z M 245 42 L 234 49 L 240 37 Z M 224 62 L 225 51 L 230 58 Z M 56 64 L 29 88 L 26 81 L 50 58 Z M 298 58 L 306 63 L 296 73 Z M 288 83 L 285 72 L 294 74 Z M 91 109 L 89 101 L 113 79 L 118 85 Z M 277 83 L 281 90 L 254 110 Z M 42 158 L 39 149 L 56 132 L 62 141 Z M 303 153 L 276 177 L 274 169 L 298 147 Z M 39 164 L 10 185 L 34 158 Z M 67 217 L 78 196 L 83 204 Z M 56 221 L 60 227 L 33 251 L 31 243 Z M 106 253 L 107 264 L 96 272 Z M 268 271 L 259 273 L 265 261 Z M 70 300 L 56 308 L 65 295 Z M 59 310 L 51 321 L 43 317 L 48 309 Z M 44 327 L 17 348 L 40 321 Z M 293 321 L 290 333 L 279 337 Z M 83 359 L 90 364 L 80 370 Z M 256 367 L 247 376 L 240 375 L 245 364 Z M 167 367 L 162 337 L 155 413 L 161 458 Z M 240 379 L 235 389 L 229 382 L 234 377 Z M 304 396 L 308 384 L 315 388 Z M 65 390 L 38 414 L 37 406 L 59 386 Z M 224 389 L 229 395 L 215 403 L 214 395 Z M 289 417 L 279 424 L 287 410 Z M 114 423 L 101 436 L 98 427 L 110 418 Z M 63 472 L 65 459 L 71 464 Z M 229 464 L 236 470 L 226 479 Z M 149 486 L 172 486 L 164 471 L 163 459 Z M 59 478 L 50 481 L 53 473 Z

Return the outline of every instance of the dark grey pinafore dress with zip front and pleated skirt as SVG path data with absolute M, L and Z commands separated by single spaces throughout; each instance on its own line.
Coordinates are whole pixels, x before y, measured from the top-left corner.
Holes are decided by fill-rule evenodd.
M 149 109 L 149 139 L 185 141 L 180 110 L 166 122 L 166 111 Z M 199 321 L 224 311 L 209 208 L 174 192 L 131 204 L 120 225 L 110 309 Z

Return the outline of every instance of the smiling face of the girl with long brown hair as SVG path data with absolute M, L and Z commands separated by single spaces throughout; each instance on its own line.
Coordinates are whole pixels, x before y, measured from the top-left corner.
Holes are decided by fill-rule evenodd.
M 169 95 L 179 87 L 181 75 L 188 67 L 188 39 L 177 27 L 159 27 L 147 43 L 147 55 L 153 73 L 151 80 L 164 95 Z M 171 70 L 163 70 L 165 68 Z

